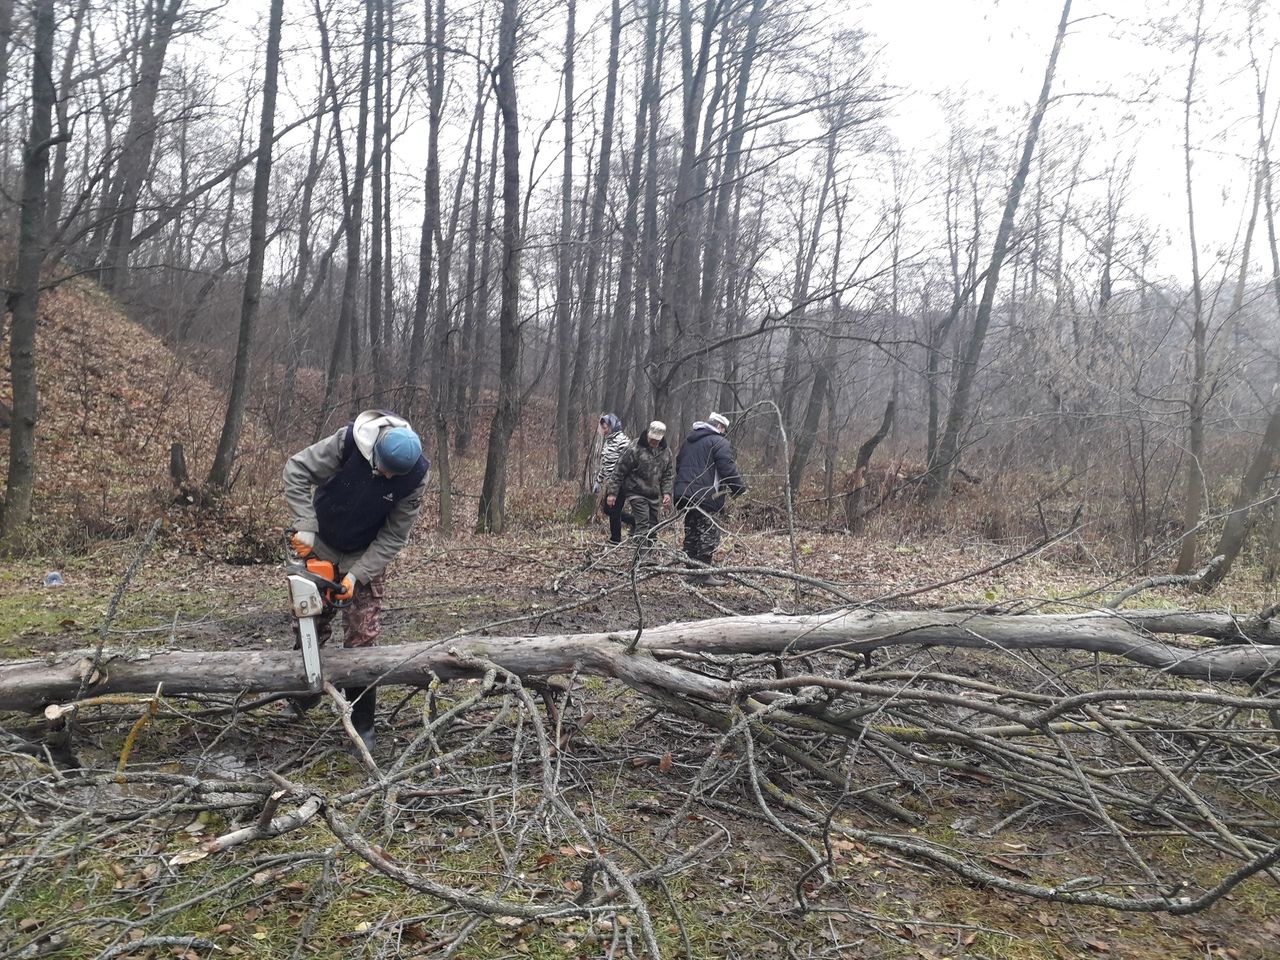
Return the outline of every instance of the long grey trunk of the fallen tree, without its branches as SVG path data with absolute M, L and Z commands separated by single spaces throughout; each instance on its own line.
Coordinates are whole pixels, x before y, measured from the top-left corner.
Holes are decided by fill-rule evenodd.
M 1156 634 L 1230 640 L 1183 645 Z M 549 636 L 456 636 L 324 654 L 335 686 L 372 682 L 426 686 L 433 677 L 474 677 L 494 663 L 520 677 L 580 673 L 614 677 L 639 689 L 724 703 L 733 684 L 684 669 L 690 655 L 869 652 L 887 646 L 977 650 L 1080 650 L 1119 657 L 1193 680 L 1252 684 L 1280 668 L 1280 631 L 1268 620 L 1188 611 L 1091 611 L 1080 614 L 1000 616 L 914 611 L 835 611 L 668 623 L 634 632 Z M 298 690 L 301 655 L 291 650 L 104 654 L 92 652 L 0 664 L 0 709 L 40 709 L 79 696 L 120 692 L 238 694 Z

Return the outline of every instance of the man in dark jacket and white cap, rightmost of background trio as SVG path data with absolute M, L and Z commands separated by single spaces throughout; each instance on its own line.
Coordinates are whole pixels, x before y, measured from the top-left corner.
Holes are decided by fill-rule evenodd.
M 685 554 L 707 566 L 719 547 L 716 515 L 724 509 L 724 494 L 740 497 L 746 490 L 733 448 L 724 439 L 727 431 L 728 417 L 713 412 L 694 422 L 676 458 L 676 508 L 685 513 Z M 698 576 L 708 586 L 724 584 L 714 575 Z

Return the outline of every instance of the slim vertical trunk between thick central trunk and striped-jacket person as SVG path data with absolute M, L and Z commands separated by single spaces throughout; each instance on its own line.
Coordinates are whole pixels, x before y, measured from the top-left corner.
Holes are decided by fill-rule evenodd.
M 561 225 L 556 278 L 556 476 L 567 480 L 573 475 L 570 444 L 570 376 L 572 375 L 571 338 L 573 319 L 573 41 L 577 0 L 567 1 L 564 33 L 564 169 L 561 174 Z M 613 82 L 613 77 L 609 77 Z M 608 133 L 605 133 L 608 136 Z

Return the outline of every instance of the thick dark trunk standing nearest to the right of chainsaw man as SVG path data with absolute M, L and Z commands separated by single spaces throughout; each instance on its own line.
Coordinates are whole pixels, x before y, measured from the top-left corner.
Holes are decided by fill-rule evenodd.
M 502 0 L 498 109 L 502 111 L 502 306 L 498 311 L 498 404 L 489 425 L 477 532 L 500 534 L 507 512 L 507 453 L 520 421 L 520 114 L 516 104 L 516 8 Z

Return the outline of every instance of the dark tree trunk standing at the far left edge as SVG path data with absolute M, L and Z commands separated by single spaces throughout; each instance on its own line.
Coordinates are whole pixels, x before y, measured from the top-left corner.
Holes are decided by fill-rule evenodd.
M 54 0 L 35 9 L 36 36 L 31 64 L 31 128 L 23 148 L 22 212 L 18 224 L 18 274 L 9 294 L 9 375 L 13 408 L 9 422 L 9 475 L 5 483 L 0 544 L 15 552 L 31 520 L 36 490 L 36 315 L 40 306 L 40 268 L 45 260 L 45 174 L 52 146 Z

